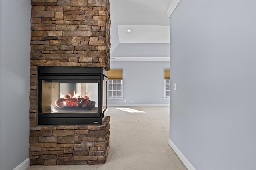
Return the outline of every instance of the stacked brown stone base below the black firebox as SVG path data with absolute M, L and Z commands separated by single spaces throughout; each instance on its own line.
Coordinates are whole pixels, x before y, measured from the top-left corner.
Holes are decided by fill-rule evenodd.
M 109 148 L 110 117 L 103 125 L 30 128 L 30 165 L 104 164 Z

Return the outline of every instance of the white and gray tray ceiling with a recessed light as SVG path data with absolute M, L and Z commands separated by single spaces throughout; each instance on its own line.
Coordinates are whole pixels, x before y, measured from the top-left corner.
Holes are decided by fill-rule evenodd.
M 169 58 L 172 0 L 109 1 L 111 60 Z

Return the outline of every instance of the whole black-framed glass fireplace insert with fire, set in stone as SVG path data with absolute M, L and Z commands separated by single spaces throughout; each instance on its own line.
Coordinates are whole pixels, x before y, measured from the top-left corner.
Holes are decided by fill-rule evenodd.
M 39 67 L 38 125 L 102 125 L 106 90 L 104 68 Z

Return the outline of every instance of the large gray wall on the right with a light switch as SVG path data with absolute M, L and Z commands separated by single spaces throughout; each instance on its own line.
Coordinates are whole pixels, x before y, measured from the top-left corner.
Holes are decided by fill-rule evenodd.
M 256 1 L 181 0 L 170 17 L 170 139 L 197 170 L 256 169 Z

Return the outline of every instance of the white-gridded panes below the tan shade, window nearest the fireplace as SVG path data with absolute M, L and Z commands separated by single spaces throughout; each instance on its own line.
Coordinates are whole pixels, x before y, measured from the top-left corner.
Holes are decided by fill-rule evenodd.
M 108 97 L 122 98 L 123 80 L 108 80 Z

